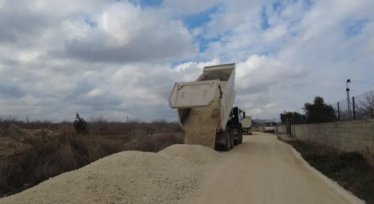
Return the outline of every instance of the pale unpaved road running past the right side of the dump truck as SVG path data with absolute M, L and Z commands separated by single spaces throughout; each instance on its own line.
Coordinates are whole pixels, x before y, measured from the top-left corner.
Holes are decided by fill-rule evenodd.
M 187 204 L 362 204 L 311 168 L 289 145 L 254 132 L 243 144 L 222 153 L 224 163 L 207 168 L 207 177 Z

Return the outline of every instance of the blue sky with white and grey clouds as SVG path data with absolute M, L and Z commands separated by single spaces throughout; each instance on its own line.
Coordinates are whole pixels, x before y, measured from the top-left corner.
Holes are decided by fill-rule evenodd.
M 0 115 L 177 120 L 175 82 L 236 63 L 259 119 L 374 89 L 374 0 L 0 0 Z

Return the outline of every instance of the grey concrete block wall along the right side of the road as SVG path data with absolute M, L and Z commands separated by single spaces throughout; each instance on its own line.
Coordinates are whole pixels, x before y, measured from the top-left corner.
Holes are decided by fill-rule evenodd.
M 284 127 L 284 126 L 283 126 Z M 279 132 L 285 132 L 281 126 Z M 358 151 L 374 162 L 374 119 L 295 125 L 300 140 L 313 141 L 344 152 Z

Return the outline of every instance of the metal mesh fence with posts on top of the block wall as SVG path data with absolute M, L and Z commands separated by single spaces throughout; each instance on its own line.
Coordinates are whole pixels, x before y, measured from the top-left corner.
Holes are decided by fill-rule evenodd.
M 374 90 L 332 104 L 340 121 L 374 119 Z

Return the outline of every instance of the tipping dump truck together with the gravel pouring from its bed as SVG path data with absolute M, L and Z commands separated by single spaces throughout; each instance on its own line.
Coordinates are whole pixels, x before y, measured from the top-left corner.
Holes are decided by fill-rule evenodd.
M 235 63 L 205 67 L 195 82 L 174 84 L 169 106 L 177 109 L 186 144 L 229 151 L 242 143 L 240 110 L 232 107 L 237 94 L 234 86 Z M 207 139 L 202 140 L 204 137 Z

